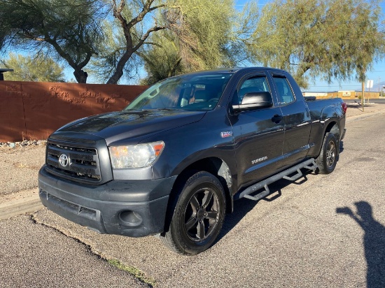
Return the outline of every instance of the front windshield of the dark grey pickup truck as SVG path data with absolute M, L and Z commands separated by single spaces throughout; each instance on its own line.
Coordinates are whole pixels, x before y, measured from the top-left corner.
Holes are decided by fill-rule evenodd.
M 125 110 L 212 110 L 233 73 L 181 75 L 148 88 Z

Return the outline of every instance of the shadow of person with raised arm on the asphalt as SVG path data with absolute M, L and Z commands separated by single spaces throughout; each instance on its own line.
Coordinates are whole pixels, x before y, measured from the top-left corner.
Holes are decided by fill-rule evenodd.
M 385 226 L 373 217 L 372 206 L 366 201 L 354 203 L 356 212 L 349 207 L 336 209 L 337 214 L 348 215 L 363 229 L 363 244 L 367 263 L 368 288 L 385 287 Z

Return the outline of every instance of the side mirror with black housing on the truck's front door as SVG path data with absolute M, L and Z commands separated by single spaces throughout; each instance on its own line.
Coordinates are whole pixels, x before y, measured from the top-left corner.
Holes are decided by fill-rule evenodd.
M 270 92 L 252 92 L 244 94 L 242 103 L 233 105 L 232 110 L 235 113 L 247 110 L 269 108 L 273 106 L 272 94 Z

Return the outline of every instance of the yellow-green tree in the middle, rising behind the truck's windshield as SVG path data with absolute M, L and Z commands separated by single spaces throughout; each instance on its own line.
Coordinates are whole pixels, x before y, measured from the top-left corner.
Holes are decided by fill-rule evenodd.
M 253 24 L 250 16 L 237 12 L 232 0 L 169 1 L 162 11 L 167 31 L 152 36 L 153 45 L 138 53 L 148 73 L 144 83 L 241 64 L 246 59 L 243 40 Z

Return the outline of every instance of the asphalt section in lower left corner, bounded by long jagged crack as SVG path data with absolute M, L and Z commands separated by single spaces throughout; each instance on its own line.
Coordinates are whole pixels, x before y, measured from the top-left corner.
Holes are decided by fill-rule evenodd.
M 0 287 L 148 287 L 29 215 L 1 221 Z

